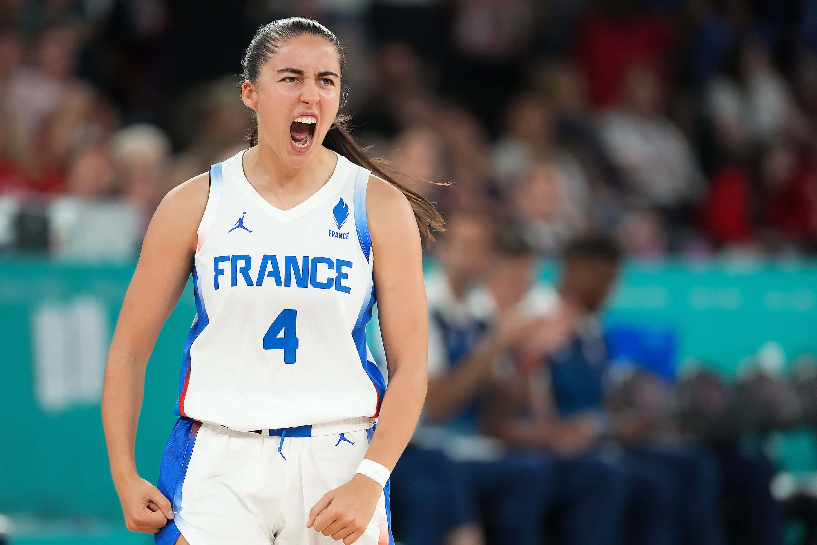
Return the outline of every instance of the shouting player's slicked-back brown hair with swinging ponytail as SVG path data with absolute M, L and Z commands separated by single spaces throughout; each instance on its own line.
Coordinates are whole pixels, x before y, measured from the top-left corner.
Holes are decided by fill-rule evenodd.
M 261 68 L 269 60 L 270 56 L 275 55 L 275 50 L 283 43 L 302 34 L 319 36 L 330 42 L 340 56 L 341 70 L 343 69 L 343 66 L 346 65 L 346 56 L 340 40 L 332 31 L 315 20 L 303 17 L 289 17 L 288 19 L 274 20 L 258 29 L 255 36 L 252 37 L 242 60 L 243 78 L 251 83 L 256 83 L 258 75 L 261 74 Z M 421 194 L 408 189 L 408 187 L 396 181 L 394 177 L 386 174 L 383 168 L 386 167 L 388 161 L 370 158 L 365 150 L 360 148 L 355 141 L 355 137 L 349 132 L 349 121 L 350 116 L 348 114 L 337 115 L 335 122 L 324 137 L 324 147 L 342 154 L 352 163 L 371 171 L 375 176 L 381 177 L 400 190 L 400 193 L 404 194 L 408 202 L 411 203 L 414 219 L 417 221 L 417 228 L 426 239 L 427 245 L 427 243 L 434 240 L 434 235 L 431 233 L 432 228 L 438 231 L 444 230 L 444 221 L 443 217 L 440 216 L 440 212 L 437 212 L 434 205 Z M 250 136 L 249 140 L 250 147 L 258 143 L 257 126 L 252 130 L 252 136 Z

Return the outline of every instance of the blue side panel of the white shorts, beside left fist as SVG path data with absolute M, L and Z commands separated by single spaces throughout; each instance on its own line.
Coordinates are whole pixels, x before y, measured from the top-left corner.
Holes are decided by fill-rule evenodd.
M 174 513 L 181 511 L 181 487 L 187 476 L 187 467 L 190 465 L 196 436 L 199 435 L 201 426 L 201 422 L 191 418 L 179 418 L 164 447 L 156 487 L 165 498 L 170 500 Z M 168 520 L 167 525 L 155 535 L 155 543 L 156 545 L 174 545 L 179 534 L 176 522 Z

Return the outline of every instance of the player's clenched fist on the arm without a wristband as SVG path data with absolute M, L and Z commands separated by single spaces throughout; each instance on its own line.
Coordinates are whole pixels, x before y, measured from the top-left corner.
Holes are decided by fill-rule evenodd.
M 125 525 L 132 532 L 156 534 L 173 518 L 170 502 L 159 490 L 139 476 L 117 486 Z

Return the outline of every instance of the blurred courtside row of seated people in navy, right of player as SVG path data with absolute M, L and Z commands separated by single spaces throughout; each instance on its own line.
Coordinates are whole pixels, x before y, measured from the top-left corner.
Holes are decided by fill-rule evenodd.
M 428 395 L 391 476 L 401 543 L 782 545 L 787 521 L 815 543 L 814 482 L 772 448 L 817 424 L 813 355 L 790 377 L 761 355 L 729 381 L 620 360 L 600 319 L 609 237 L 570 240 L 545 285 L 524 224 L 453 212 L 435 257 Z

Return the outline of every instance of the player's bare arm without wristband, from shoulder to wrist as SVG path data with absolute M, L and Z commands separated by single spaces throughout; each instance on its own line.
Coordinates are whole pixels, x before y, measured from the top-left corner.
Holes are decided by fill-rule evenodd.
M 145 235 L 108 351 L 102 423 L 111 474 L 123 499 L 123 510 L 126 509 L 123 494 L 139 479 L 133 446 L 145 390 L 145 367 L 156 337 L 190 275 L 196 230 L 207 199 L 208 175 L 203 174 L 176 187 L 159 204 Z M 127 520 L 127 511 L 125 516 Z

